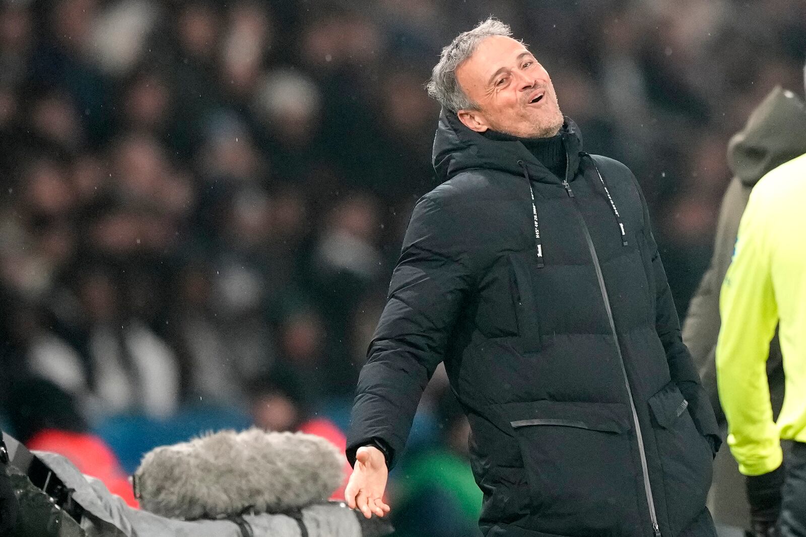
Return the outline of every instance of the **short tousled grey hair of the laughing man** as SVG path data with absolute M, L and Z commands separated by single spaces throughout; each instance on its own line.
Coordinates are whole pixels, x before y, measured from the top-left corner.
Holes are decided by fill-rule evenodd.
M 473 55 L 481 41 L 492 35 L 509 37 L 512 35 L 512 30 L 500 20 L 490 17 L 472 30 L 457 35 L 450 45 L 442 49 L 439 63 L 434 65 L 426 89 L 431 97 L 451 112 L 460 109 L 478 109 L 478 105 L 465 95 L 459 82 L 456 81 L 456 69 Z

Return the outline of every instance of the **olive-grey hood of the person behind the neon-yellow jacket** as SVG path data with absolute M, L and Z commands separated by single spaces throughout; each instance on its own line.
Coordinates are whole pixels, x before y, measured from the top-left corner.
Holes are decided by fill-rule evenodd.
M 753 186 L 768 171 L 806 153 L 806 106 L 776 87 L 750 114 L 728 144 L 728 163 L 743 184 Z

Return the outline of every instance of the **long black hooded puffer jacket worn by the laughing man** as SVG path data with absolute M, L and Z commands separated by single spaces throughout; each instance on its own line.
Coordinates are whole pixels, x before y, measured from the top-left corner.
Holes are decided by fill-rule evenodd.
M 565 178 L 442 113 L 442 184 L 413 211 L 348 455 L 378 439 L 394 458 L 445 361 L 485 535 L 681 535 L 704 510 L 713 410 L 637 181 L 570 120 L 562 136 Z

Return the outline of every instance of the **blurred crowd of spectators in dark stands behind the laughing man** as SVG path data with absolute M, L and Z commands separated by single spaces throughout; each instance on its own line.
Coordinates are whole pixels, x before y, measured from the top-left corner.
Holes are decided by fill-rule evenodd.
M 684 312 L 729 136 L 773 86 L 802 87 L 797 0 L 3 0 L 0 394 L 47 378 L 89 426 L 201 401 L 343 427 L 434 186 L 423 85 L 491 12 L 546 66 L 587 151 L 638 176 Z M 463 457 L 435 385 L 425 455 L 393 474 L 401 498 Z M 449 488 L 475 524 L 465 477 Z

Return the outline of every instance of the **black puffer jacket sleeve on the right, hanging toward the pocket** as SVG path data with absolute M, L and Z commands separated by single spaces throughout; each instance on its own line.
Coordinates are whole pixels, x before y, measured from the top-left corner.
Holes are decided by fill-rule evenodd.
M 636 181 L 638 184 L 638 181 Z M 666 359 L 669 364 L 669 374 L 671 380 L 675 382 L 688 401 L 688 411 L 692 415 L 692 420 L 700 432 L 700 435 L 708 437 L 714 451 L 716 452 L 722 440 L 717 427 L 717 417 L 714 415 L 708 393 L 704 390 L 697 373 L 691 353 L 688 347 L 683 344 L 683 336 L 680 333 L 680 320 L 675 308 L 675 299 L 671 295 L 671 289 L 663 269 L 663 262 L 658 251 L 658 244 L 652 234 L 650 224 L 649 209 L 646 205 L 641 189 L 641 203 L 644 211 L 644 240 L 650 252 L 652 266 L 652 276 L 654 279 L 655 293 L 655 331 L 666 351 Z

